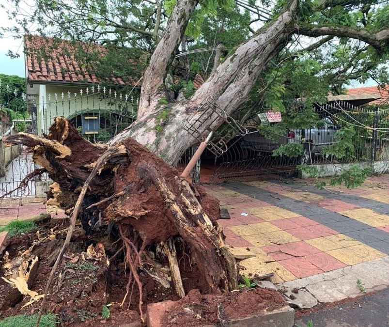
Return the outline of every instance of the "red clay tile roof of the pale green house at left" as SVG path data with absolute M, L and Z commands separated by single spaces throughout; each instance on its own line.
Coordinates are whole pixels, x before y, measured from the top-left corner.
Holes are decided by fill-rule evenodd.
M 47 82 L 78 82 L 78 83 L 98 83 L 99 79 L 95 74 L 87 70 L 82 62 L 77 62 L 73 53 L 76 45 L 69 41 L 54 39 L 38 35 L 26 35 L 26 70 L 27 77 L 31 81 Z M 86 49 L 87 45 L 81 45 Z M 93 44 L 93 50 L 104 54 L 106 48 Z M 46 50 L 46 56 L 41 55 L 42 50 Z M 45 58 L 44 58 L 45 57 Z M 114 83 L 124 85 L 120 77 L 112 78 Z

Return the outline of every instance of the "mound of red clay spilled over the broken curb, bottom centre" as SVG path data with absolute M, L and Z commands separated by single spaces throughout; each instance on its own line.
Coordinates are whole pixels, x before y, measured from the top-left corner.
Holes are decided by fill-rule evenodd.
M 199 290 L 191 290 L 165 312 L 162 326 L 214 325 L 221 319 L 228 321 L 283 306 L 285 300 L 280 293 L 266 288 L 243 288 L 225 295 L 202 295 Z

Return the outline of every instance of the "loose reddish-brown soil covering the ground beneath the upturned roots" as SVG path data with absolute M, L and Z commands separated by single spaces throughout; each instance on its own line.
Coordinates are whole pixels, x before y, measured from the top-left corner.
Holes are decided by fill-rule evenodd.
M 53 218 L 39 225 L 37 231 L 12 237 L 1 258 L 0 277 L 8 278 L 4 276 L 5 269 L 2 266 L 7 257 L 14 258 L 30 249 L 32 254 L 38 256 L 39 266 L 29 288 L 43 294 L 68 226 L 69 219 Z M 109 265 L 107 257 L 115 254 L 109 247 L 107 257 L 100 257 L 100 260 L 97 257 L 88 258 L 87 248 L 92 244 L 93 249 L 98 249 L 98 240 L 86 235 L 81 226 L 77 226 L 74 235 L 50 287 L 45 312 L 57 314 L 61 326 L 120 326 L 128 323 L 141 326 L 136 287 L 121 307 L 129 273 L 129 269 L 124 266 L 124 254 L 116 254 L 109 260 Z M 184 243 L 177 247 L 177 258 L 187 296 L 166 312 L 164 326 L 204 326 L 215 324 L 220 319 L 250 315 L 261 310 L 271 311 L 285 305 L 279 293 L 261 288 L 243 288 L 228 295 L 202 295 L 201 292 L 206 292 L 207 284 L 202 280 L 197 265 L 190 262 Z M 179 299 L 172 286 L 164 288 L 149 274 L 141 271 L 140 278 L 144 312 L 149 303 Z M 10 299 L 12 289 L 12 285 L 0 279 L 2 317 L 23 313 L 30 315 L 39 311 L 41 301 L 23 307 L 30 300 L 29 296 Z M 110 317 L 104 319 L 102 308 L 110 303 Z

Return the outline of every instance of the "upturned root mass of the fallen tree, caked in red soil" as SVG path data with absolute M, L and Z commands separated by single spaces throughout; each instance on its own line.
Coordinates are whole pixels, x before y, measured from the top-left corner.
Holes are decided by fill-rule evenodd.
M 61 117 L 56 118 L 45 138 L 19 133 L 6 141 L 33 148 L 33 160 L 54 181 L 47 194 L 50 203 L 69 214 L 74 210 L 87 235 L 97 239 L 102 231 L 109 231 L 120 239 L 106 248 L 116 250 L 112 257 L 125 251 L 130 274 L 122 305 L 135 285 L 142 316 L 138 269 L 165 286 L 172 280 L 183 296 L 174 258 L 177 240 L 184 243 L 191 262 L 197 265 L 206 292 L 236 289 L 236 263 L 216 223 L 218 200 L 202 187 L 190 185 L 177 170 L 135 140 L 127 139 L 113 147 L 92 144 Z M 162 269 L 166 263 L 159 260 L 163 256 L 156 255 L 158 251 L 169 258 L 170 274 Z

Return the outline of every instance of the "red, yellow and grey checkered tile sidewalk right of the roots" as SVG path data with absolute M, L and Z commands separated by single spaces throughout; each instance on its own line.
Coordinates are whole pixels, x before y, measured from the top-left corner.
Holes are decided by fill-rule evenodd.
M 389 285 L 389 175 L 370 177 L 355 189 L 319 190 L 314 181 L 305 180 L 206 187 L 230 213 L 231 219 L 218 220 L 224 226 L 226 244 L 256 254 L 240 262 L 246 267 L 244 274 L 258 272 L 254 266 L 260 265 L 261 272 L 274 273 L 274 283 L 303 288 L 313 283 L 328 293 L 330 285 L 335 291 L 337 287 L 333 283 L 319 287 L 319 280 L 328 284 L 352 271 L 347 267 L 376 263 L 382 268 L 379 280 L 363 281 L 371 289 Z M 334 272 L 332 277 L 326 277 L 329 272 Z M 355 279 L 348 294 L 331 291 L 326 301 L 360 295 L 357 276 L 348 279 L 348 283 Z M 293 284 L 304 279 L 308 279 L 305 285 Z

